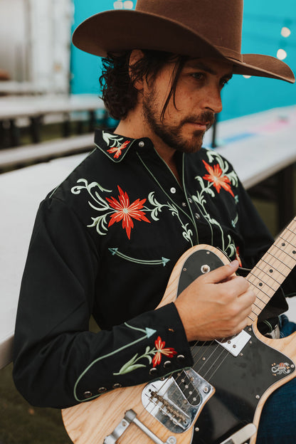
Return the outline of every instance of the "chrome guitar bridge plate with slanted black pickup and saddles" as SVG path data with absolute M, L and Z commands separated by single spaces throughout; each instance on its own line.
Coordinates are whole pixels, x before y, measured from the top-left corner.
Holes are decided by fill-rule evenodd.
M 163 381 L 147 384 L 142 391 L 144 408 L 172 433 L 188 430 L 214 393 L 211 384 L 193 369 L 179 371 Z

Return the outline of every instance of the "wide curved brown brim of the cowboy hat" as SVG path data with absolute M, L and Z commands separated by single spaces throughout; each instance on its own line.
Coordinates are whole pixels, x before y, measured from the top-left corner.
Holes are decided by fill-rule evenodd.
M 275 57 L 243 54 L 242 61 L 223 54 L 212 43 L 169 18 L 134 10 L 105 11 L 80 23 L 73 44 L 87 53 L 106 57 L 132 49 L 167 51 L 190 57 L 221 58 L 233 63 L 233 73 L 295 82 L 290 67 Z

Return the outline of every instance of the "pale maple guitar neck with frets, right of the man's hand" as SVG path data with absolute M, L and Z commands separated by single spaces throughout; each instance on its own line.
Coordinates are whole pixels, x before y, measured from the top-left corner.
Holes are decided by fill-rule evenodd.
M 250 314 L 252 321 L 258 318 L 260 312 L 268 304 L 295 265 L 296 217 L 280 233 L 275 243 L 247 276 L 247 280 L 256 294 L 256 300 Z

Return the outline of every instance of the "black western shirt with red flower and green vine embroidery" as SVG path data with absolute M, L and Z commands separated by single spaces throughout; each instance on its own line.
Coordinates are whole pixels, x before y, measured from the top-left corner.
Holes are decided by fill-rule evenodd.
M 174 303 L 154 310 L 174 264 L 206 243 L 251 267 L 272 242 L 226 159 L 201 149 L 176 164 L 181 185 L 149 139 L 98 130 L 94 151 L 41 203 L 14 351 L 29 402 L 71 406 L 191 366 Z

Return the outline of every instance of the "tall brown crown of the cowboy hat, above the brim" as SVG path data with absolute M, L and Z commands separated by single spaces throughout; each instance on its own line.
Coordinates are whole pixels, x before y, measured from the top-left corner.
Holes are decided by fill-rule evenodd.
M 176 21 L 240 60 L 243 0 L 138 0 L 136 10 Z

